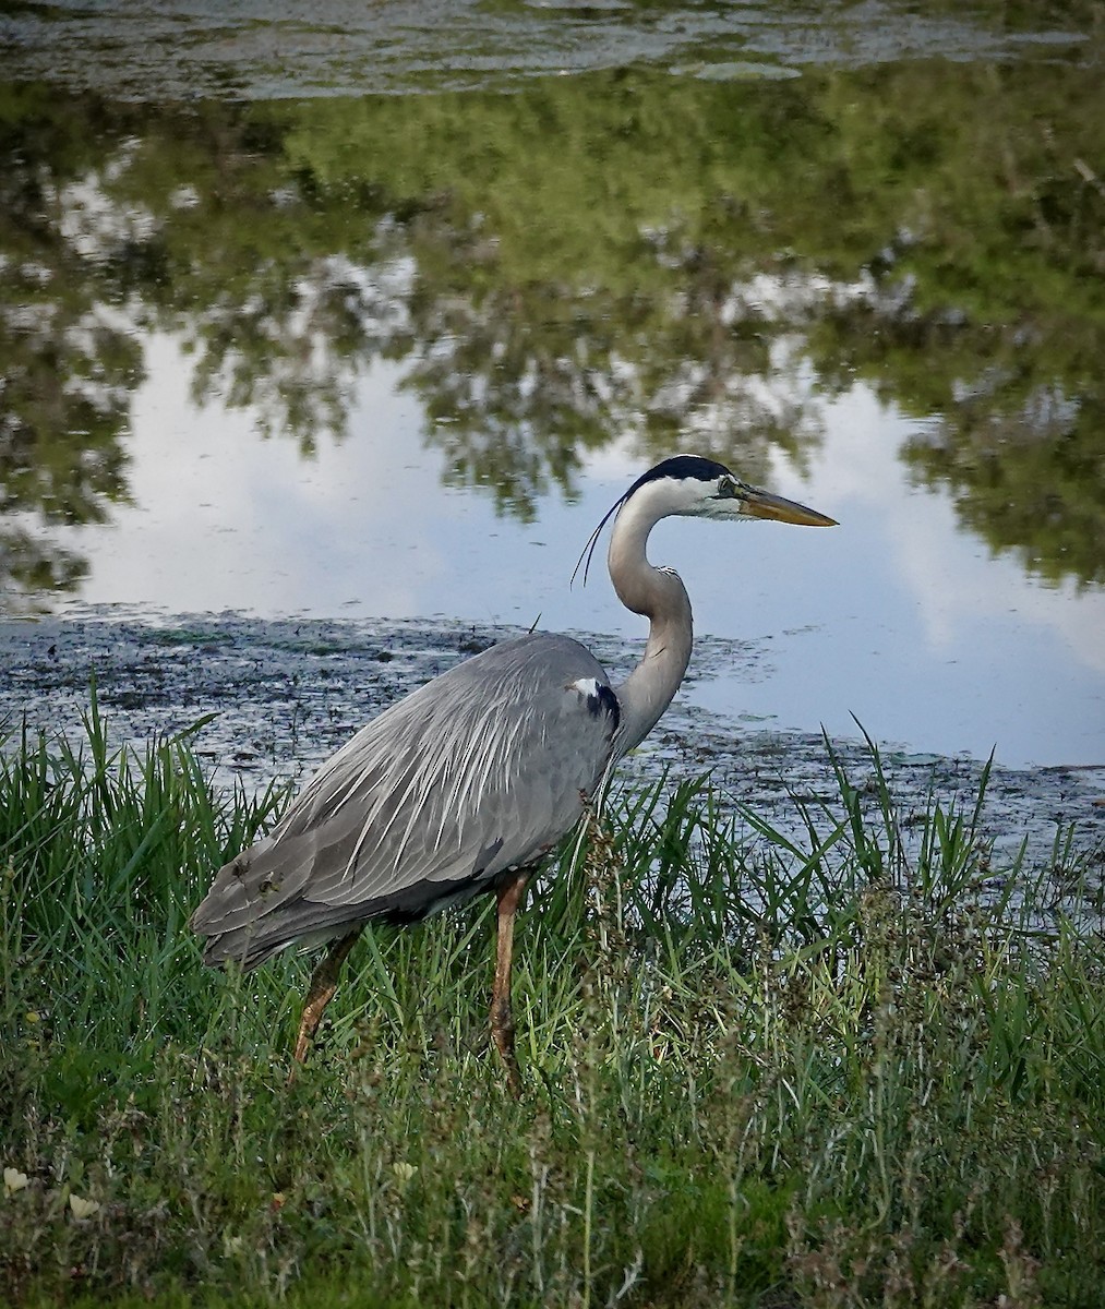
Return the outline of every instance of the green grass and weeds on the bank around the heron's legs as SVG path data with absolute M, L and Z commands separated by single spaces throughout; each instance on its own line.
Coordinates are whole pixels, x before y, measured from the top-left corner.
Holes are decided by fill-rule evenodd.
M 284 796 L 94 702 L 0 759 L 0 1302 L 1101 1304 L 1100 920 L 982 795 L 906 821 L 872 750 L 801 842 L 615 796 L 520 922 L 516 1102 L 487 902 L 365 933 L 289 1086 L 309 961 L 186 925 Z

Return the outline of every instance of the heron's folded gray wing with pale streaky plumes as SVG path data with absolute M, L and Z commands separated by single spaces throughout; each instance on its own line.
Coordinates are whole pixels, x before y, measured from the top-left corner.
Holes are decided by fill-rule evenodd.
M 577 641 L 495 645 L 363 728 L 192 915 L 208 963 L 408 922 L 542 859 L 611 758 L 618 702 Z

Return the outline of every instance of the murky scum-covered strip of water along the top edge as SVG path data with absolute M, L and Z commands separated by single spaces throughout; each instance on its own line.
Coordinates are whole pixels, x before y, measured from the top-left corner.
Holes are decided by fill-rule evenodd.
M 77 0 L 0 26 L 9 76 L 139 101 L 516 89 L 534 77 L 653 64 L 683 77 L 789 77 L 907 59 L 1079 50 L 1091 5 L 1028 24 L 1008 5 L 649 4 L 598 0 L 313 0 L 274 5 Z

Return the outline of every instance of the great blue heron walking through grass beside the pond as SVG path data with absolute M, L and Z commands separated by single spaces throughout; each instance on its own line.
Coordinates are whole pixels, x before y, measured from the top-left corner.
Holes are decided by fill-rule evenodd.
M 300 1063 L 365 923 L 414 923 L 488 890 L 499 901 L 491 1031 L 517 1086 L 511 952 L 522 889 L 656 725 L 690 660 L 690 600 L 676 572 L 649 564 L 649 531 L 669 514 L 834 525 L 687 454 L 634 482 L 592 534 L 588 564 L 614 513 L 610 580 L 649 620 L 644 657 L 621 686 L 568 636 L 492 645 L 361 728 L 192 915 L 207 963 L 253 969 L 293 941 L 333 942 L 304 1001 Z

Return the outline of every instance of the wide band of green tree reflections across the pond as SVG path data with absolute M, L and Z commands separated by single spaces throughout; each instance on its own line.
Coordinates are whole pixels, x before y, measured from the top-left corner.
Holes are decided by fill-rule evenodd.
M 801 466 L 858 378 L 960 521 L 1105 580 L 1097 72 L 919 64 L 724 84 L 118 105 L 5 92 L 0 586 L 84 573 L 54 524 L 128 496 L 153 330 L 196 403 L 310 458 L 399 364 L 446 484 L 529 520 L 584 461 Z M 985 107 L 985 109 L 983 109 Z M 691 435 L 693 433 L 693 435 Z

